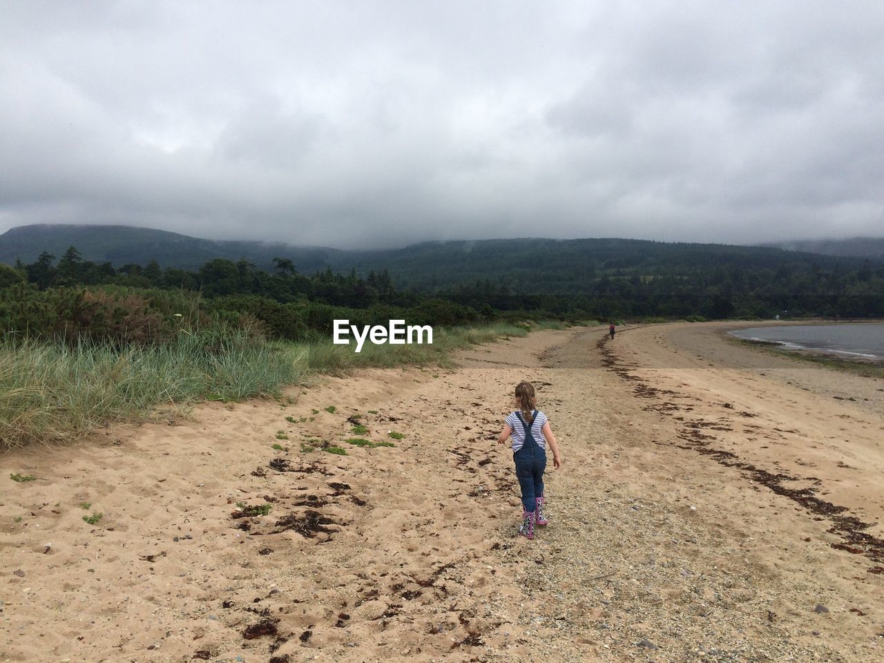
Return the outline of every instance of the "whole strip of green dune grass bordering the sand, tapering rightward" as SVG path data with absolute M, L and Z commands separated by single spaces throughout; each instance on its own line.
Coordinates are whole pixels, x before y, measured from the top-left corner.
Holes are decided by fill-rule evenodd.
M 278 394 L 316 374 L 363 367 L 453 366 L 454 350 L 522 337 L 539 324 L 433 330 L 433 343 L 335 346 L 268 341 L 232 329 L 187 333 L 155 346 L 38 340 L 0 341 L 0 451 L 29 443 L 70 442 L 119 421 L 182 415 L 199 400 Z

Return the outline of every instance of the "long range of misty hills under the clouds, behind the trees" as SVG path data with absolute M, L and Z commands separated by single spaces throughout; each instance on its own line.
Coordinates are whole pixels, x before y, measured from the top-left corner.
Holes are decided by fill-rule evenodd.
M 307 274 L 326 268 L 339 273 L 355 269 L 363 276 L 387 270 L 397 287 L 424 292 L 489 281 L 515 293 L 582 293 L 604 277 L 707 278 L 727 271 L 739 279 L 743 278 L 741 274 L 805 271 L 812 265 L 827 269 L 835 263 L 858 269 L 863 263 L 857 257 L 772 247 L 619 239 L 444 241 L 387 250 L 344 251 L 201 240 L 177 232 L 123 225 L 13 228 L 0 235 L 0 263 L 14 263 L 17 257 L 24 263 L 34 263 L 42 251 L 59 258 L 71 246 L 88 261 L 107 262 L 116 268 L 156 259 L 162 267 L 195 271 L 214 258 L 245 258 L 259 269 L 271 270 L 272 259 L 280 257 L 291 259 L 298 271 Z

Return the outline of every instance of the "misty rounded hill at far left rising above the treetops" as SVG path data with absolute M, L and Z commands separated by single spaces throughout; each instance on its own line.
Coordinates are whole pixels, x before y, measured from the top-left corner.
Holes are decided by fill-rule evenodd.
M 76 247 L 93 263 L 146 264 L 196 270 L 213 258 L 245 258 L 259 269 L 272 268 L 273 258 L 290 258 L 299 271 L 325 269 L 339 254 L 336 248 L 295 247 L 259 241 L 201 240 L 178 232 L 134 228 L 128 225 L 22 225 L 0 235 L 0 263 L 17 258 L 33 263 L 47 251 L 56 258 Z

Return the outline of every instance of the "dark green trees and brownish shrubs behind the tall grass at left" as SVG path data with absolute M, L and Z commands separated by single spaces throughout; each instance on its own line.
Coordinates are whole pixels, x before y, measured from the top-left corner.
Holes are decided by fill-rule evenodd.
M 362 277 L 331 269 L 301 274 L 287 258 L 272 272 L 246 260 L 210 260 L 197 271 L 85 261 L 71 247 L 57 261 L 0 265 L 0 324 L 7 337 L 40 336 L 80 342 L 156 343 L 175 333 L 233 326 L 273 338 L 329 338 L 335 319 L 377 324 L 471 324 L 484 316 L 458 302 L 400 291 L 387 271 Z

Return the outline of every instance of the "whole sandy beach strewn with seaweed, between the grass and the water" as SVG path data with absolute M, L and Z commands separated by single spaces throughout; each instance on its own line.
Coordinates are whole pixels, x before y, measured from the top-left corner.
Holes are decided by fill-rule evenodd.
M 534 332 L 9 453 L 0 660 L 880 660 L 884 382 L 727 328 Z M 523 378 L 565 461 L 534 541 L 493 440 Z

